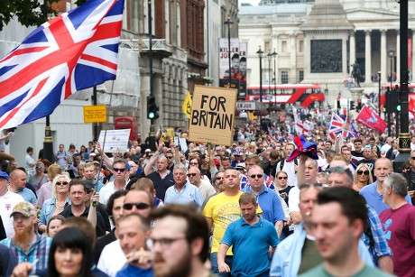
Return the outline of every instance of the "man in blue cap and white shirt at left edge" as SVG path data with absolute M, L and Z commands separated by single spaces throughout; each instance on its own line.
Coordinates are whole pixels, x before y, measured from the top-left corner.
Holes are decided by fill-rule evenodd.
M 13 219 L 10 218 L 14 206 L 24 201 L 23 197 L 10 191 L 7 186 L 9 184 L 9 175 L 4 171 L 0 171 L 0 217 L 2 217 L 3 226 L 5 227 L 5 235 L 12 237 L 14 234 Z

